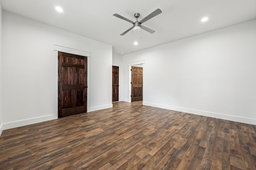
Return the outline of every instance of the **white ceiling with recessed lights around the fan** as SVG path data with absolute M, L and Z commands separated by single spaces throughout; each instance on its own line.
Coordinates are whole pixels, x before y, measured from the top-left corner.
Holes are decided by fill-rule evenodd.
M 112 45 L 113 53 L 119 55 L 256 19 L 256 0 L 0 0 L 0 3 L 5 11 Z M 55 6 L 61 6 L 64 12 L 56 12 Z M 113 14 L 136 21 L 134 14 L 140 13 L 140 21 L 157 8 L 162 14 L 142 24 L 155 33 L 142 30 L 142 39 L 136 46 L 132 31 L 120 35 L 132 23 Z M 202 23 L 200 20 L 205 16 L 209 20 Z

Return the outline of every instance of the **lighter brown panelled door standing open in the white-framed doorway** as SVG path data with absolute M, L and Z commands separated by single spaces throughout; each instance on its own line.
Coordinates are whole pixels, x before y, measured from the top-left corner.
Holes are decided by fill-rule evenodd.
M 132 66 L 132 102 L 143 100 L 143 68 Z

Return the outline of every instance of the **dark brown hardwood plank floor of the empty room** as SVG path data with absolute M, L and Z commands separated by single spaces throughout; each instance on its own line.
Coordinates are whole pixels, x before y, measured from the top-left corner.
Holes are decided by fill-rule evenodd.
M 256 126 L 117 102 L 5 130 L 0 170 L 255 170 Z

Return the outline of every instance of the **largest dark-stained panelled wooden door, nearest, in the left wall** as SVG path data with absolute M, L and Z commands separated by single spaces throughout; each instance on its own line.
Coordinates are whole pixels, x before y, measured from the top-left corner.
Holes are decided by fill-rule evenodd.
M 58 117 L 87 111 L 87 57 L 59 52 Z

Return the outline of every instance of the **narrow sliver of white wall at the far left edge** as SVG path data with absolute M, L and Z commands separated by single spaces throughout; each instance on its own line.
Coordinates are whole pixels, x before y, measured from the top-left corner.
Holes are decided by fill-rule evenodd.
M 2 134 L 2 6 L 0 4 L 0 135 Z

